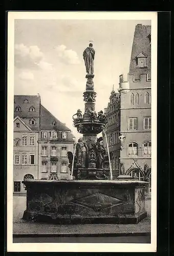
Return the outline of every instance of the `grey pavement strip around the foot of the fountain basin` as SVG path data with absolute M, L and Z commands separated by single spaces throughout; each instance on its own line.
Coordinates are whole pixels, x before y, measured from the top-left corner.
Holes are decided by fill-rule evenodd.
M 49 223 L 28 223 L 22 220 L 26 209 L 26 196 L 13 197 L 13 234 L 101 234 L 150 232 L 151 200 L 145 201 L 147 218 L 138 224 L 82 224 L 55 225 Z

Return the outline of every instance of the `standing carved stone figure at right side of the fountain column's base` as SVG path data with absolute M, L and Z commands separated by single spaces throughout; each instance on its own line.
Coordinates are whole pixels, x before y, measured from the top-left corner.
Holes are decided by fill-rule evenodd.
M 102 166 L 103 157 L 106 154 L 105 148 L 103 146 L 103 138 L 102 137 L 97 139 L 95 147 L 96 147 L 96 158 L 97 158 L 96 167 L 101 169 L 103 167 Z

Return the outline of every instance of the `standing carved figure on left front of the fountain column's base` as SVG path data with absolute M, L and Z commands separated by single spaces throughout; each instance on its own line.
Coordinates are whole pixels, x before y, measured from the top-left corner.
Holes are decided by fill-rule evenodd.
M 78 143 L 76 145 L 76 155 L 77 155 L 77 165 L 82 168 L 86 167 L 86 156 L 88 155 L 88 146 L 86 142 L 83 141 L 82 138 L 78 139 Z

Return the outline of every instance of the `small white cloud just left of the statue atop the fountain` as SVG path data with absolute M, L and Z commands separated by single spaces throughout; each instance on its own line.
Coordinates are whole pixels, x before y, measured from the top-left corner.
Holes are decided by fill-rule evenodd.
M 77 53 L 73 50 L 67 50 L 67 47 L 64 45 L 56 47 L 56 52 L 59 59 L 66 64 L 73 65 L 80 63 Z

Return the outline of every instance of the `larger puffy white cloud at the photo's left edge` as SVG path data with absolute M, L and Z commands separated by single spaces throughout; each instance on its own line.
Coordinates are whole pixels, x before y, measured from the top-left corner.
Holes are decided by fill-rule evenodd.
M 17 68 L 52 70 L 52 64 L 45 61 L 44 53 L 38 46 L 15 44 L 14 65 Z

